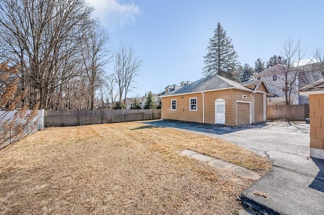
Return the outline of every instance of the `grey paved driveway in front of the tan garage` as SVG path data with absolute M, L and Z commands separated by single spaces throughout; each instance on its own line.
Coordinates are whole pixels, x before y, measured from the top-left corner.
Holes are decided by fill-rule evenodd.
M 324 161 L 309 157 L 308 124 L 268 122 L 238 128 L 162 120 L 146 124 L 229 140 L 269 156 L 271 171 L 239 197 L 246 207 L 261 214 L 324 214 Z M 255 191 L 269 197 L 256 196 Z

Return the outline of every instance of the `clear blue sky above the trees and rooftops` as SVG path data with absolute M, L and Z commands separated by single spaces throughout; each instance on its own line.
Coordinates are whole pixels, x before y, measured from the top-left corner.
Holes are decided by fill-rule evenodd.
M 218 22 L 232 38 L 241 65 L 254 67 L 257 58 L 281 55 L 289 36 L 307 48 L 305 59 L 318 47 L 324 51 L 324 0 L 87 1 L 107 28 L 110 45 L 132 45 L 143 60 L 130 96 L 202 78 L 206 48 Z M 112 64 L 106 72 L 112 73 Z

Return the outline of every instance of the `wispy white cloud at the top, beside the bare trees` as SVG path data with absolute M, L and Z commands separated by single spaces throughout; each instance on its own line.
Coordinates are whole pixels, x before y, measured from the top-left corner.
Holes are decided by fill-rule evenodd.
M 94 17 L 99 18 L 102 24 L 109 28 L 123 27 L 126 24 L 134 23 L 142 13 L 133 1 L 87 0 L 87 2 L 95 8 Z

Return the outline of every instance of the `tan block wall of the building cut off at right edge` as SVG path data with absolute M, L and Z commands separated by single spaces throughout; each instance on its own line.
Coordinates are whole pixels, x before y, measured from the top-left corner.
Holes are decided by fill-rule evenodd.
M 310 148 L 324 150 L 324 94 L 309 95 L 309 117 Z

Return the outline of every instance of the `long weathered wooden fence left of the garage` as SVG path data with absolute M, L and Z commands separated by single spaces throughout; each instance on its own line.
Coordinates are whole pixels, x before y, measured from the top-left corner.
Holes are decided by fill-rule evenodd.
M 161 119 L 160 109 L 45 111 L 45 127 L 79 126 L 157 119 Z

